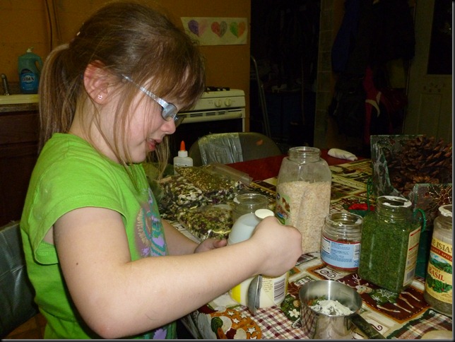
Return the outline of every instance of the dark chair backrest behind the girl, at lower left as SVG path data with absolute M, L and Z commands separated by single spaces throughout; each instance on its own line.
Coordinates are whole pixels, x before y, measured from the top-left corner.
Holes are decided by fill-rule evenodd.
M 0 227 L 0 338 L 38 313 L 27 276 L 19 221 Z

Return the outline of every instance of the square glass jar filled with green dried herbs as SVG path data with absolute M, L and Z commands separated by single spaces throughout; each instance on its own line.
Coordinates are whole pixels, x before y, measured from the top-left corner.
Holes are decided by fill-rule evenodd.
M 420 222 L 411 202 L 379 196 L 376 210 L 363 218 L 360 278 L 394 293 L 412 283 L 417 263 Z

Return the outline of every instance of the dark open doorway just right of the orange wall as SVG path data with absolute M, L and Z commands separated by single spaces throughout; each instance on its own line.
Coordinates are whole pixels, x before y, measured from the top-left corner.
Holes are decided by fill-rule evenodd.
M 264 87 L 270 134 L 278 145 L 313 146 L 319 0 L 252 0 L 250 130 L 264 132 L 256 77 Z

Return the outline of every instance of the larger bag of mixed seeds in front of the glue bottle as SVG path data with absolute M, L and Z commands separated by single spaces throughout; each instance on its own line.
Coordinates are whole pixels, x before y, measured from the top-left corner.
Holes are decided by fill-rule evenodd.
M 160 213 L 163 218 L 171 220 L 177 220 L 179 213 L 191 208 L 232 201 L 245 187 L 242 182 L 214 175 L 199 167 L 179 167 L 177 172 L 179 174 L 160 181 Z

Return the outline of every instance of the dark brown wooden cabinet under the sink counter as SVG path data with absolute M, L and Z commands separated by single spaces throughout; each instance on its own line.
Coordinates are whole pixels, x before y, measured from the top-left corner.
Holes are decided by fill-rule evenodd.
M 0 225 L 19 220 L 37 160 L 37 110 L 0 112 Z

